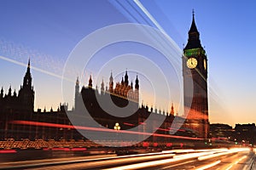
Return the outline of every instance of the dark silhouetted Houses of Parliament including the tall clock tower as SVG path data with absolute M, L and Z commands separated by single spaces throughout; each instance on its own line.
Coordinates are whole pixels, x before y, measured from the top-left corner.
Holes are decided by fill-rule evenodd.
M 100 89 L 94 86 L 90 76 L 88 85 L 80 88 L 79 78 L 74 84 L 74 108 L 67 111 L 67 105 L 60 105 L 57 111 L 34 111 L 34 95 L 32 86 L 32 74 L 30 60 L 23 78 L 20 90 L 16 92 L 11 87 L 9 91 L 0 94 L 0 140 L 4 139 L 84 139 L 75 128 L 60 127 L 72 125 L 67 114 L 83 112 L 84 106 L 90 116 L 102 127 L 113 129 L 118 122 L 122 130 L 130 129 L 143 124 L 148 116 L 154 115 L 154 121 L 164 117 L 160 127 L 154 133 L 170 134 L 170 128 L 174 119 L 182 123 L 182 131 L 177 135 L 199 137 L 207 139 L 208 122 L 208 99 L 207 99 L 207 55 L 201 47 L 200 33 L 195 26 L 195 16 L 189 29 L 189 40 L 183 48 L 183 99 L 184 116 L 175 116 L 173 105 L 170 111 L 156 111 L 148 105 L 139 105 L 139 77 L 135 82 L 129 82 L 129 71 L 125 71 L 125 77 L 114 85 L 112 72 L 109 83 L 102 81 Z M 192 86 L 191 86 L 192 85 Z M 94 88 L 95 87 L 95 88 Z M 192 87 L 192 88 L 191 88 Z M 192 91 L 192 93 L 191 93 Z M 102 109 L 102 104 L 107 109 Z M 131 105 L 130 116 L 113 116 L 111 104 L 119 108 Z M 109 107 L 108 107 L 109 106 Z M 48 123 L 50 126 L 42 126 Z M 154 127 L 153 127 L 154 128 Z M 181 133 L 184 132 L 184 133 Z M 149 138 L 150 139 L 150 138 Z M 166 140 L 163 138 L 154 140 Z

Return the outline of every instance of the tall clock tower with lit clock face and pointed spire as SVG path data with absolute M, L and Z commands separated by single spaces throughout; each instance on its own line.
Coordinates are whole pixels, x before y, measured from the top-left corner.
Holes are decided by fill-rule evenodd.
M 198 137 L 207 138 L 209 131 L 207 54 L 201 47 L 194 11 L 188 43 L 183 48 L 183 102 L 186 117 L 184 126 L 194 130 Z

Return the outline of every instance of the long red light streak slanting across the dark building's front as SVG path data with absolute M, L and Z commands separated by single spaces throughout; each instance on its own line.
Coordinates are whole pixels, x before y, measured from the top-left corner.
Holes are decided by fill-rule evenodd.
M 73 126 L 73 125 L 65 125 L 65 124 L 56 124 L 49 122 L 32 122 L 32 121 L 11 121 L 12 124 L 23 124 L 23 125 L 32 125 L 32 126 L 40 126 L 40 127 L 60 127 L 60 128 L 70 128 L 70 129 L 81 129 L 81 130 L 89 130 L 89 131 L 98 131 L 98 132 L 108 132 L 108 133 L 116 133 L 116 130 L 102 127 L 82 127 L 82 126 Z M 185 136 L 175 136 L 171 134 L 160 134 L 160 133 L 143 133 L 143 132 L 135 132 L 130 130 L 119 130 L 119 133 L 130 133 L 130 134 L 141 134 L 148 136 L 159 136 L 173 139 L 192 139 L 192 140 L 203 140 L 201 138 L 192 138 Z

